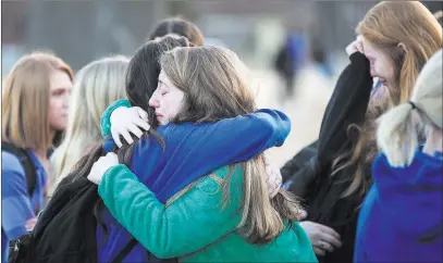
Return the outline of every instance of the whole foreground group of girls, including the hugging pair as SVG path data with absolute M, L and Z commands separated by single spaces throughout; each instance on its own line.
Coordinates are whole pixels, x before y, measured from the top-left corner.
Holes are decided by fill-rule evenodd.
M 3 85 L 2 262 L 443 262 L 442 47 L 422 3 L 376 4 L 318 140 L 281 168 L 267 150 L 291 120 L 188 21 L 76 74 L 24 55 Z

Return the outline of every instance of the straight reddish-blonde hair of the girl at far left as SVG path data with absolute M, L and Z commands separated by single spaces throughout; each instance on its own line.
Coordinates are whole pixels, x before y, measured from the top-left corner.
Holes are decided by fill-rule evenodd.
M 48 110 L 50 77 L 54 71 L 73 79 L 71 67 L 49 53 L 26 54 L 14 64 L 3 85 L 2 140 L 34 150 L 47 150 L 53 146 Z

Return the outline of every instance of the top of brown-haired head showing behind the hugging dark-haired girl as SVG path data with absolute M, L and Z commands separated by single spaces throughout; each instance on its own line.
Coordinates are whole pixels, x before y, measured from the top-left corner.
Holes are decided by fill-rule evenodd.
M 195 46 L 204 46 L 204 36 L 200 29 L 192 22 L 181 17 L 170 17 L 160 21 L 149 34 L 149 40 L 167 35 L 185 37 Z

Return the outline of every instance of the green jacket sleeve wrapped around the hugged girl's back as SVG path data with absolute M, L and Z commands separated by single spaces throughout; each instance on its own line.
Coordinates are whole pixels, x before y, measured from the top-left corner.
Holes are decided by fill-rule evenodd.
M 227 167 L 216 171 L 225 177 Z M 232 173 L 230 205 L 222 209 L 223 190 L 206 176 L 169 206 L 160 203 L 125 165 L 111 167 L 99 195 L 115 220 L 160 259 L 198 251 L 236 229 L 239 223 L 239 170 Z

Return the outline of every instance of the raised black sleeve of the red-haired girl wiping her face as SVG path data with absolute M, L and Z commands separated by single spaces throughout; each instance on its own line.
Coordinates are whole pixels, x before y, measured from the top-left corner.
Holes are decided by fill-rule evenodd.
M 350 64 L 341 74 L 321 123 L 318 142 L 320 165 L 329 165 L 347 145 L 348 126 L 361 124 L 368 109 L 372 89 L 369 61 L 359 52 L 349 59 Z

